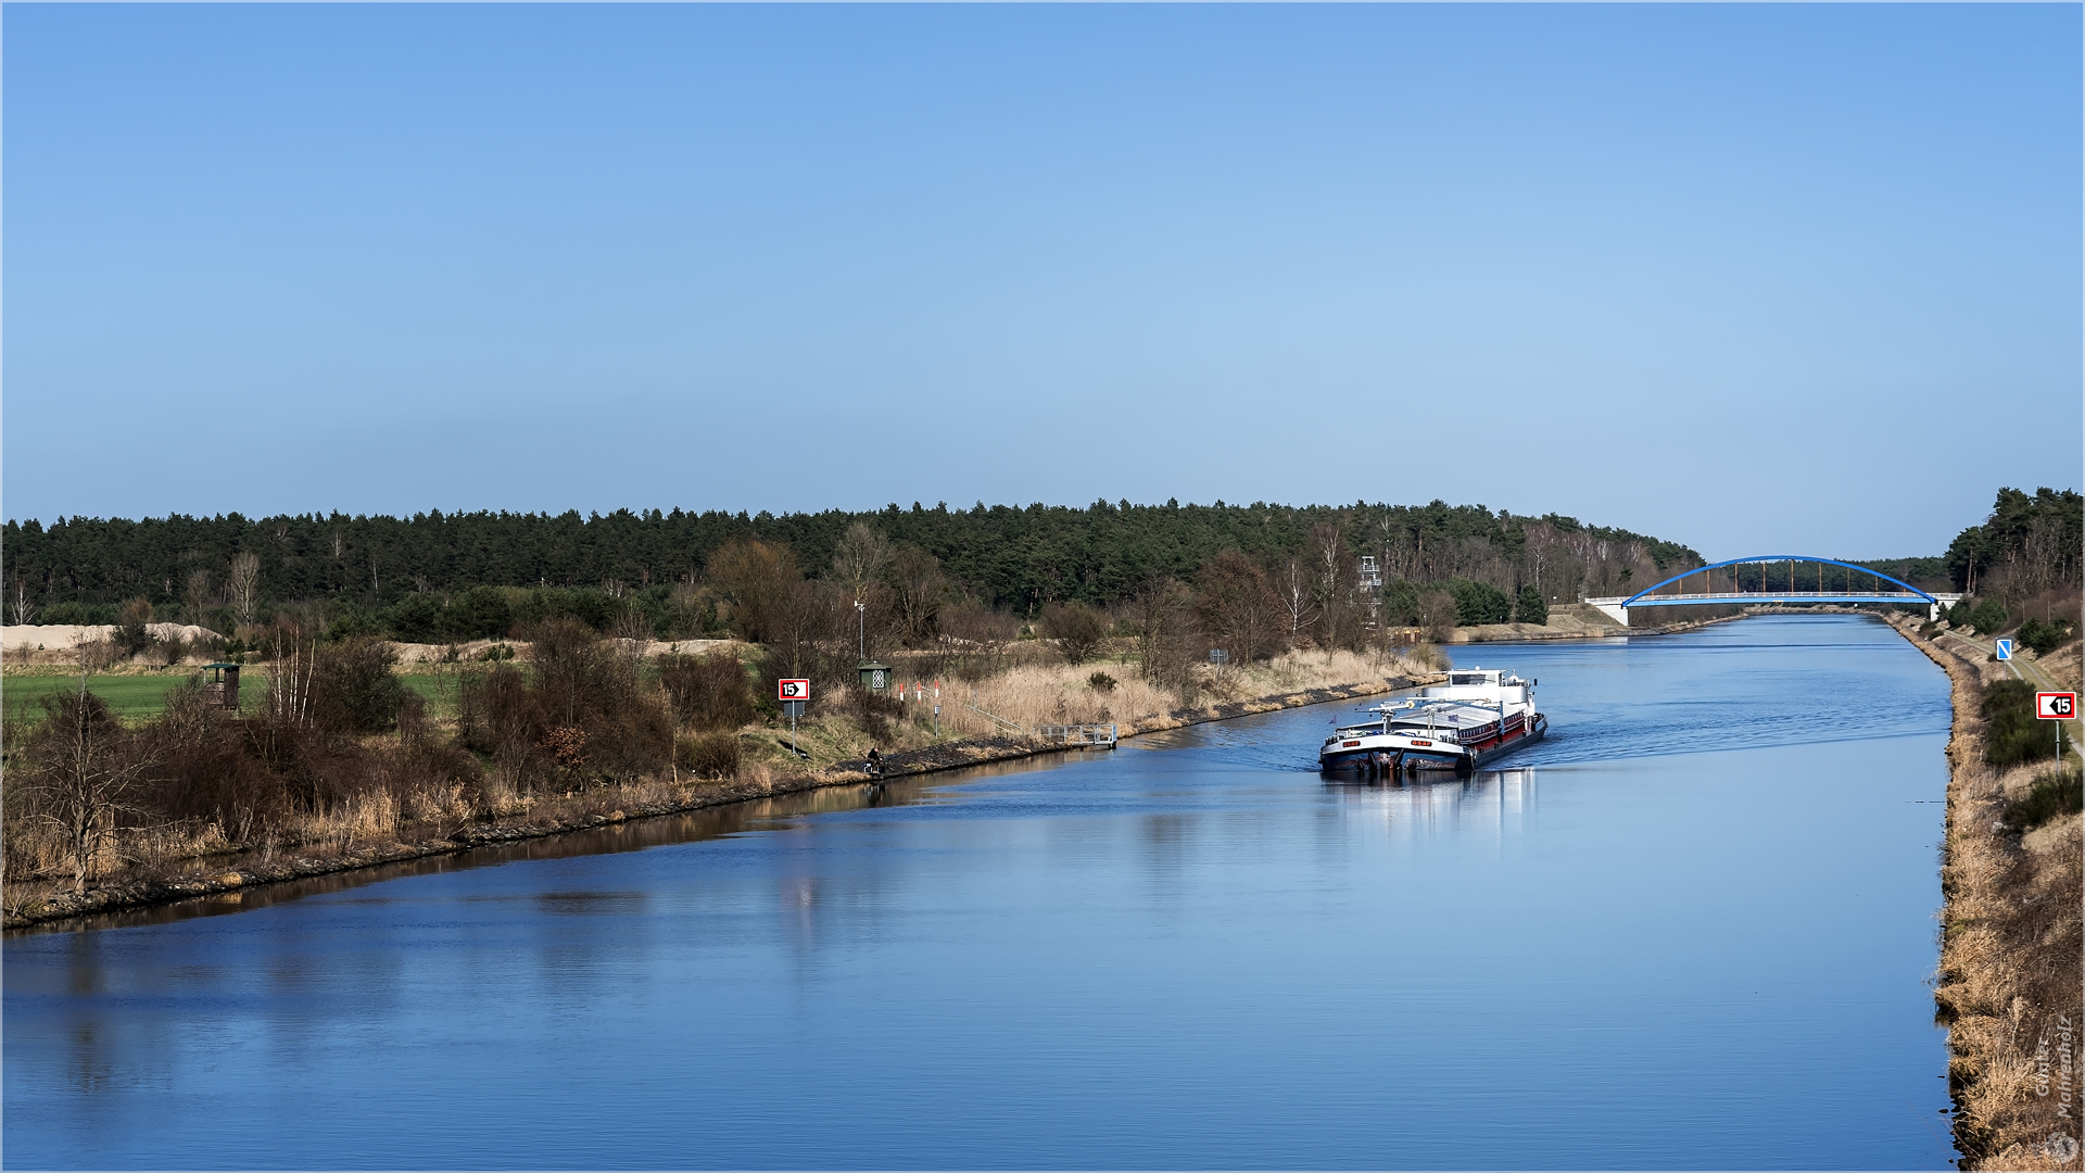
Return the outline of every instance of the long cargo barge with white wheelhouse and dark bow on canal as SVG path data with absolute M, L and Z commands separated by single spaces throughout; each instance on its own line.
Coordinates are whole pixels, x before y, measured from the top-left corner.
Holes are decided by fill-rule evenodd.
M 1320 770 L 1453 770 L 1468 776 L 1549 731 L 1549 718 L 1535 712 L 1535 680 L 1482 668 L 1449 672 L 1445 685 L 1370 712 L 1378 714 L 1376 720 L 1343 724 L 1324 739 Z

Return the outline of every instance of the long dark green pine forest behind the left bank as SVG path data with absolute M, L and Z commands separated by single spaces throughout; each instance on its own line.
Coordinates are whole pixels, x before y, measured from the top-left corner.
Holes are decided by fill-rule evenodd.
M 936 564 L 953 597 L 1020 614 L 1051 603 L 1115 605 L 1157 578 L 1193 578 L 1236 551 L 1270 572 L 1284 559 L 1376 559 L 1384 582 L 1482 582 L 1551 601 L 1641 589 L 1701 557 L 1678 543 L 1587 526 L 1555 513 L 1520 518 L 1482 505 L 1130 505 L 1084 509 L 976 505 L 880 511 L 417 513 L 413 518 L 277 516 L 100 520 L 4 528 L 8 622 L 117 622 L 150 603 L 229 632 L 281 605 L 323 603 L 350 628 L 400 637 L 492 632 L 542 614 L 607 628 L 632 607 L 659 630 L 701 628 L 676 586 L 705 582 L 709 557 L 755 538 L 790 549 L 826 576 L 840 536 L 867 524 Z M 505 591 L 486 591 L 488 586 Z M 528 591 L 528 597 L 515 591 Z M 686 591 L 682 591 L 686 595 Z M 686 599 L 682 599 L 686 603 Z

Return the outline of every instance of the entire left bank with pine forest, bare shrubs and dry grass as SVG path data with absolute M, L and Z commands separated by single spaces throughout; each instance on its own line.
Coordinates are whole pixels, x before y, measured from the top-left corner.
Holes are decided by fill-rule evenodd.
M 75 518 L 4 543 L 8 918 L 254 854 L 844 781 L 872 749 L 963 764 L 1364 695 L 1455 639 L 1620 632 L 1557 601 L 1699 564 L 1439 501 Z M 242 668 L 238 708 L 186 672 L 208 662 Z M 811 683 L 803 720 L 782 678 Z

